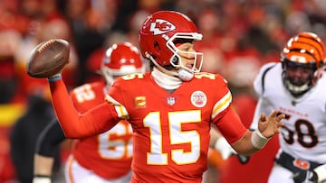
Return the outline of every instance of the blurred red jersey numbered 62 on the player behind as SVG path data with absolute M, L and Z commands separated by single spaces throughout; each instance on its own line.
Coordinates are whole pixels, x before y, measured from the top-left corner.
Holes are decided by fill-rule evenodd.
M 71 92 L 74 106 L 80 113 L 104 101 L 104 82 L 76 87 Z M 132 158 L 132 129 L 120 121 L 110 131 L 76 140 L 73 157 L 86 169 L 102 178 L 119 178 L 130 171 Z

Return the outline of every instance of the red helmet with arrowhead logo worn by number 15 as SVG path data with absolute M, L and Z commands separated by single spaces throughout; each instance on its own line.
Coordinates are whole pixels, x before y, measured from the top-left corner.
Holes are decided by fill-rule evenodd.
M 192 78 L 203 63 L 203 53 L 178 50 L 176 41 L 200 41 L 203 35 L 185 14 L 173 11 L 158 11 L 148 16 L 140 27 L 139 47 L 144 58 L 150 59 L 158 69 L 182 80 Z M 191 69 L 183 66 L 178 53 L 194 54 L 195 63 Z M 165 69 L 167 66 L 180 68 L 177 72 Z M 187 72 L 185 72 L 187 71 Z M 185 76 L 186 75 L 186 76 Z M 190 77 L 190 78 L 189 78 Z

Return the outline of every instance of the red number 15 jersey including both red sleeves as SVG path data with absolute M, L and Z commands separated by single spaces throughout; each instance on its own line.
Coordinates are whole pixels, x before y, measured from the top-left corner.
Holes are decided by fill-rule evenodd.
M 134 143 L 131 182 L 201 182 L 210 125 L 216 124 L 230 143 L 246 132 L 230 107 L 227 83 L 219 75 L 196 74 L 172 94 L 149 73 L 118 78 L 106 97 L 111 105 L 99 105 L 82 115 L 64 101 L 61 80 L 51 82 L 51 88 L 53 105 L 68 136 L 99 133 L 119 119 L 129 119 Z

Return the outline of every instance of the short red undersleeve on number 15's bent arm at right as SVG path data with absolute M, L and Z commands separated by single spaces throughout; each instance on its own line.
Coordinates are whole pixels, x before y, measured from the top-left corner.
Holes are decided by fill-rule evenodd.
M 241 122 L 239 115 L 235 113 L 231 106 L 228 106 L 225 111 L 217 117 L 219 117 L 219 119 L 216 126 L 227 142 L 237 142 L 245 135 L 247 129 Z

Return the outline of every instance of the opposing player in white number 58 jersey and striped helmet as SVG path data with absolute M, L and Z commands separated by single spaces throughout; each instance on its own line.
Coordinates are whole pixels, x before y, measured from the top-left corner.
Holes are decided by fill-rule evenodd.
M 312 32 L 300 32 L 284 46 L 281 62 L 264 65 L 254 80 L 259 96 L 254 122 L 258 114 L 274 108 L 286 116 L 270 183 L 326 180 L 324 59 L 321 39 Z

